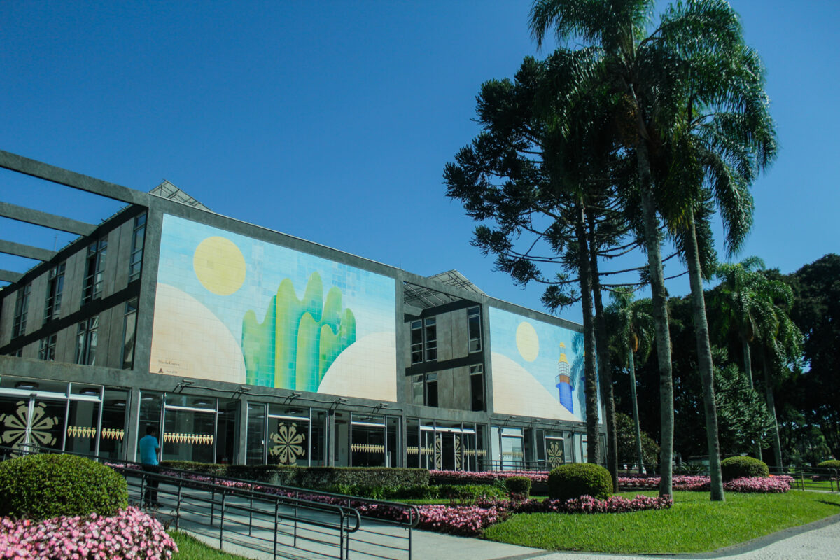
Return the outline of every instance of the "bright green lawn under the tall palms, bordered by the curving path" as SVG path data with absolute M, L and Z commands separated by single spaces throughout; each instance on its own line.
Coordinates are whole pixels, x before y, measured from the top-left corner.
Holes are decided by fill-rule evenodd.
M 622 495 L 656 495 L 627 492 Z M 705 492 L 675 492 L 670 510 L 622 514 L 536 513 L 491 526 L 487 539 L 549 550 L 670 554 L 711 552 L 792 526 L 840 514 L 840 496 L 727 493 L 712 503 Z

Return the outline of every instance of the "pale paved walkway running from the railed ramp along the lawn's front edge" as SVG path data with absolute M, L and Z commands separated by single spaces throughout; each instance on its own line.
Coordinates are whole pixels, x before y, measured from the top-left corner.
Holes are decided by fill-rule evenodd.
M 200 496 L 197 490 L 184 489 L 184 495 Z M 171 494 L 161 484 L 160 501 L 163 507 L 158 511 L 162 521 L 171 518 Z M 192 496 L 191 496 L 192 497 Z M 139 499 L 139 496 L 137 496 Z M 191 500 L 192 501 L 192 500 Z M 170 505 L 167 505 L 170 502 Z M 194 502 L 195 503 L 195 502 Z M 207 544 L 219 546 L 218 512 L 216 522 L 208 526 L 207 506 L 181 509 L 181 529 L 188 531 Z M 299 560 L 321 560 L 339 555 L 339 540 L 336 531 L 324 530 L 318 521 L 331 521 L 326 512 L 300 512 L 298 523 L 287 518 L 274 531 L 274 512 L 264 516 L 253 514 L 252 529 L 249 531 L 249 514 L 237 510 L 236 505 L 248 505 L 240 499 L 228 499 L 228 513 L 225 516 L 223 550 L 240 556 L 265 560 L 273 558 L 270 552 L 277 539 L 279 557 Z M 232 509 L 231 509 L 232 508 Z M 283 508 L 284 510 L 288 508 Z M 272 508 L 273 510 L 273 508 Z M 261 512 L 260 512 L 261 513 Z M 307 519 L 312 523 L 307 523 Z M 249 534 L 250 533 L 250 534 Z M 350 535 L 350 554 L 353 560 L 363 558 L 396 558 L 407 560 L 408 531 L 400 526 L 378 521 L 363 520 L 360 531 Z M 705 554 L 679 554 L 670 556 L 617 556 L 589 552 L 549 552 L 538 548 L 517 547 L 499 542 L 484 541 L 464 536 L 443 535 L 433 531 L 411 531 L 413 560 L 639 560 L 685 558 L 727 558 L 727 560 L 837 560 L 840 558 L 840 514 L 815 521 L 806 526 L 793 527 L 764 536 L 751 542 Z M 243 546 L 244 545 L 244 546 Z M 308 550 L 300 550 L 304 547 Z

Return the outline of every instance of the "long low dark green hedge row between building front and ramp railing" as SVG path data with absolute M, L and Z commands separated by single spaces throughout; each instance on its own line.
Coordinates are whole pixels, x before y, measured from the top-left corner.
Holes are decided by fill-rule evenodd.
M 163 466 L 231 479 L 255 480 L 297 488 L 326 489 L 336 484 L 359 486 L 426 486 L 425 468 L 290 467 L 286 465 L 226 465 L 164 461 Z

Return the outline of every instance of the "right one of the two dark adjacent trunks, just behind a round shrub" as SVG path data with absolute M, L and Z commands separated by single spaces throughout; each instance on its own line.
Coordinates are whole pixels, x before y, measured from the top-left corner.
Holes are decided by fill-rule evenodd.
M 589 216 L 589 254 L 592 296 L 595 301 L 595 337 L 598 353 L 598 378 L 601 380 L 601 400 L 606 412 L 606 469 L 612 476 L 612 491 L 618 491 L 618 437 L 616 434 L 616 400 L 612 395 L 612 363 L 610 340 L 606 334 L 604 303 L 601 299 L 601 279 L 598 278 L 598 243 L 595 220 Z

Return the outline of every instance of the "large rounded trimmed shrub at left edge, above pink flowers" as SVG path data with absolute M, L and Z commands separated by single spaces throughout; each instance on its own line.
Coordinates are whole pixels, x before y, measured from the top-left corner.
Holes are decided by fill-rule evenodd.
M 28 455 L 0 463 L 0 517 L 115 516 L 129 506 L 125 479 L 76 455 Z

